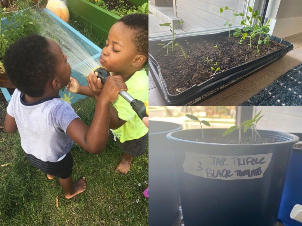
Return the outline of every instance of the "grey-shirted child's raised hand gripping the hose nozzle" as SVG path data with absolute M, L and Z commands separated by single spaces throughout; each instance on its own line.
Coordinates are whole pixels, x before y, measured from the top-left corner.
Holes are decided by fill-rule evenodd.
M 127 91 L 127 86 L 120 75 L 109 76 L 103 86 L 100 98 L 106 98 L 110 103 L 117 99 L 121 90 Z

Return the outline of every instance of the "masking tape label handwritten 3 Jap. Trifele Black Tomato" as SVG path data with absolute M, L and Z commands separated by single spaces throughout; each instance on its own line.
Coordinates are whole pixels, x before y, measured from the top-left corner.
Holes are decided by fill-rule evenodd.
M 240 180 L 263 177 L 272 153 L 262 155 L 204 155 L 185 152 L 184 171 L 198 177 Z

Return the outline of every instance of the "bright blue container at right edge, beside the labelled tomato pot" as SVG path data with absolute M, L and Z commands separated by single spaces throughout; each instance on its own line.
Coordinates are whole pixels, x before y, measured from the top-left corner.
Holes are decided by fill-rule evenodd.
M 285 226 L 301 226 L 290 217 L 294 205 L 302 205 L 302 149 L 294 148 L 284 184 L 278 220 Z

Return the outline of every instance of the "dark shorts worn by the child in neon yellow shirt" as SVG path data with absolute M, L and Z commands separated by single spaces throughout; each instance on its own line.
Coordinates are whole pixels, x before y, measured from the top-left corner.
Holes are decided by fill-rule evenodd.
M 113 135 L 109 136 L 109 139 L 111 137 L 113 138 Z M 147 139 L 148 133 L 146 133 L 146 135 L 144 135 L 143 137 L 140 137 L 135 140 L 126 140 L 124 143 L 121 143 L 120 140 L 117 138 L 117 143 L 124 153 L 131 156 L 140 156 L 146 150 Z

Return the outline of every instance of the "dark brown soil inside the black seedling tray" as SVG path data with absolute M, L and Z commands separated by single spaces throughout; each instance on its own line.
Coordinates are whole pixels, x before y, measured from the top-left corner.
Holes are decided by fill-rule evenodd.
M 169 93 L 175 95 L 211 78 L 214 74 L 211 67 L 216 69 L 216 62 L 220 67 L 218 72 L 221 72 L 285 48 L 278 42 L 270 41 L 270 45 L 259 45 L 258 53 L 257 37 L 252 40 L 252 47 L 249 46 L 249 39 L 242 44 L 239 44 L 239 40 L 233 35 L 230 38 L 226 35 L 179 42 L 187 55 L 186 59 L 179 47 L 175 47 L 173 53 L 169 49 L 169 56 L 162 46 L 156 46 L 156 49 L 150 49 L 149 52 L 160 65 Z M 214 47 L 216 45 L 218 49 Z

